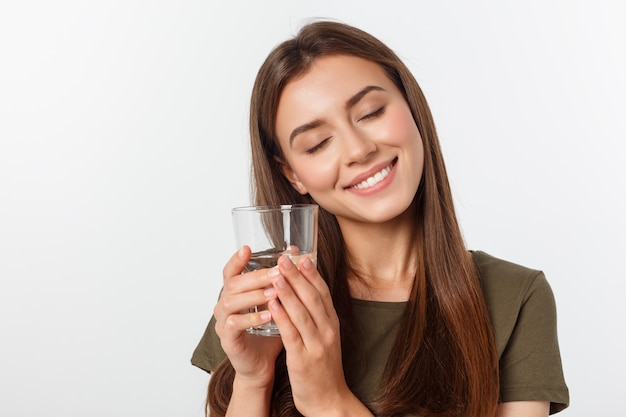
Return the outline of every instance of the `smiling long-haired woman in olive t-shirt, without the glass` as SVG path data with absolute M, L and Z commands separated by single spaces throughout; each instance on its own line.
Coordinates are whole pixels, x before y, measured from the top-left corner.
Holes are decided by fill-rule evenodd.
M 320 205 L 316 268 L 241 274 L 192 363 L 213 416 L 545 416 L 565 408 L 541 272 L 469 252 L 411 73 L 356 28 L 316 22 L 274 49 L 251 100 L 255 203 Z M 268 303 L 269 312 L 241 314 Z M 273 319 L 280 338 L 246 334 Z

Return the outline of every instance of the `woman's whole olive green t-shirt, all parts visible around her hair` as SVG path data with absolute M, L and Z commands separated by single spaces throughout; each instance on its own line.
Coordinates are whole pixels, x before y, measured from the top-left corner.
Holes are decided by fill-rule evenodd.
M 500 401 L 549 401 L 550 413 L 569 404 L 556 329 L 556 306 L 541 271 L 472 252 L 493 324 L 500 362 Z M 353 317 L 367 368 L 348 380 L 361 400 L 371 399 L 381 376 L 404 311 L 404 302 L 352 300 Z M 226 357 L 215 319 L 196 347 L 191 363 L 211 372 Z

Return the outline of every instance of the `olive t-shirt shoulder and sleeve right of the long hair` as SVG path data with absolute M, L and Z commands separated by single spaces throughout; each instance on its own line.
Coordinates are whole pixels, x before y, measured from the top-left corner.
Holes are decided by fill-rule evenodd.
M 543 272 L 473 252 L 493 325 L 500 365 L 500 401 L 548 401 L 565 409 L 554 294 Z

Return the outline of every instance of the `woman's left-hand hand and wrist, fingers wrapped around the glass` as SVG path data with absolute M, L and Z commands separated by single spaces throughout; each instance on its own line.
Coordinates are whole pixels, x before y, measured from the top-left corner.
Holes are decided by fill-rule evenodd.
M 280 337 L 246 333 L 247 328 L 270 321 L 271 315 L 267 310 L 258 313 L 242 311 L 276 298 L 269 269 L 242 274 L 250 256 L 250 248 L 244 246 L 226 263 L 224 287 L 213 315 L 215 331 L 237 378 L 260 388 L 273 382 L 276 358 L 283 345 Z

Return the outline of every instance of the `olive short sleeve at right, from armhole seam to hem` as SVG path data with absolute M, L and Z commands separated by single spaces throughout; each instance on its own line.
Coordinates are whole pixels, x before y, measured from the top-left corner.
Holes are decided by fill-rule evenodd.
M 556 305 L 543 273 L 530 282 L 508 343 L 500 357 L 500 400 L 550 401 L 550 413 L 565 409 L 569 393 L 557 338 Z

